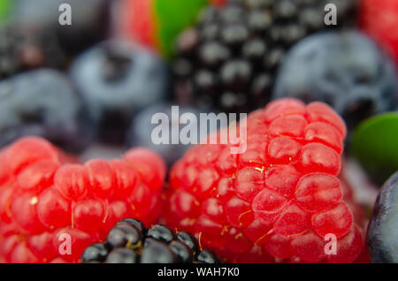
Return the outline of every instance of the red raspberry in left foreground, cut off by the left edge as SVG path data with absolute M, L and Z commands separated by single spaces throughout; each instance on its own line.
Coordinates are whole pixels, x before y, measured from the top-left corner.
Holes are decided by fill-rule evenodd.
M 34 137 L 1 151 L 0 262 L 77 262 L 120 219 L 157 219 L 165 163 L 154 152 L 84 165 L 65 159 Z

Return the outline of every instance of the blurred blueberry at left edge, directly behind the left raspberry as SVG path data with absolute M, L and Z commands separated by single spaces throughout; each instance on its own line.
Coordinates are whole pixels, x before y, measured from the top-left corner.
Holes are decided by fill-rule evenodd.
M 38 135 L 80 152 L 92 141 L 94 128 L 80 95 L 60 72 L 41 69 L 0 82 L 0 147 Z

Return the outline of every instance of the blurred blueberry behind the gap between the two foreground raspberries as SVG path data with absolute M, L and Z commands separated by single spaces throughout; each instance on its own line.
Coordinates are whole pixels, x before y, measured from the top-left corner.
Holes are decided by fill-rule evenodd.
M 192 113 L 198 120 L 197 132 L 198 137 L 200 136 L 200 114 L 207 113 L 208 110 L 197 108 L 197 107 L 187 107 L 179 106 L 179 117 L 184 113 Z M 151 120 L 155 114 L 165 114 L 168 118 L 168 122 L 165 123 L 155 123 L 152 124 Z M 163 156 L 166 163 L 171 166 L 172 163 L 177 161 L 190 147 L 188 144 L 172 144 L 172 130 L 177 127 L 179 130 L 186 127 L 187 125 L 182 125 L 179 123 L 179 117 L 177 119 L 172 118 L 172 104 L 171 103 L 157 103 L 150 106 L 149 108 L 140 111 L 134 115 L 132 125 L 130 126 L 128 133 L 127 145 L 128 147 L 147 147 L 156 151 L 159 155 Z M 152 133 L 158 127 L 161 126 L 164 132 L 168 132 L 167 143 L 157 144 L 152 140 Z M 208 125 L 208 132 L 210 132 L 210 125 Z M 197 138 L 197 141 L 199 139 Z

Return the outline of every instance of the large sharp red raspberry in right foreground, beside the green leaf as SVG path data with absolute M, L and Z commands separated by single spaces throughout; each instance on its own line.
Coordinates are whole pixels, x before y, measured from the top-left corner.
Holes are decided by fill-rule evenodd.
M 281 99 L 249 115 L 247 136 L 243 154 L 198 145 L 175 163 L 165 221 L 229 262 L 353 262 L 364 238 L 337 178 L 341 118 Z M 337 254 L 325 253 L 329 233 Z

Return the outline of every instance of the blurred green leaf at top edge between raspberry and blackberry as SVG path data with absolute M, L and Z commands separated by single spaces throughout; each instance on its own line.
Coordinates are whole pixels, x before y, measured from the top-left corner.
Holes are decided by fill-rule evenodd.
M 195 24 L 198 12 L 209 0 L 155 0 L 157 40 L 167 56 L 172 55 L 174 40 L 180 32 Z

